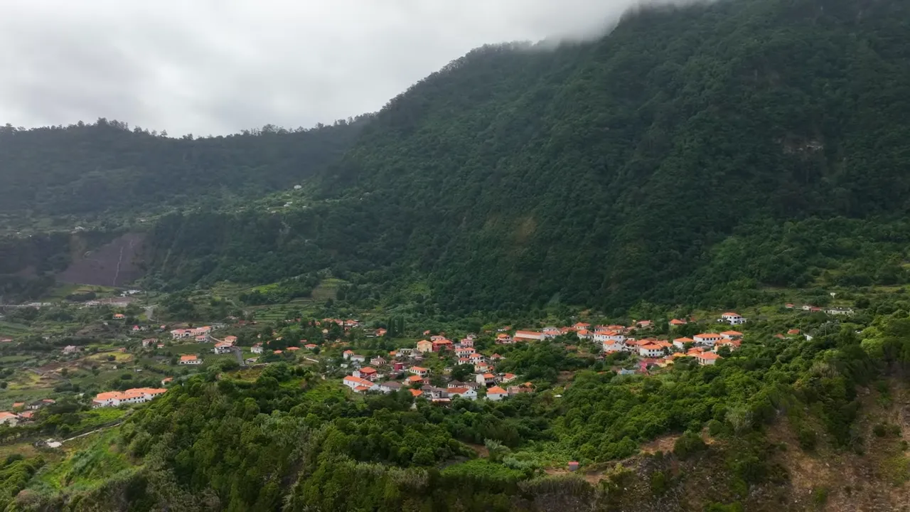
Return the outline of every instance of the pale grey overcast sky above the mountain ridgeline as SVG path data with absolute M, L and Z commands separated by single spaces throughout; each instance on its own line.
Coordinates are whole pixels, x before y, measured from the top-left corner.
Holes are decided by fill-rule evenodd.
M 0 0 L 0 124 L 169 135 L 381 108 L 476 46 L 591 35 L 637 0 Z

